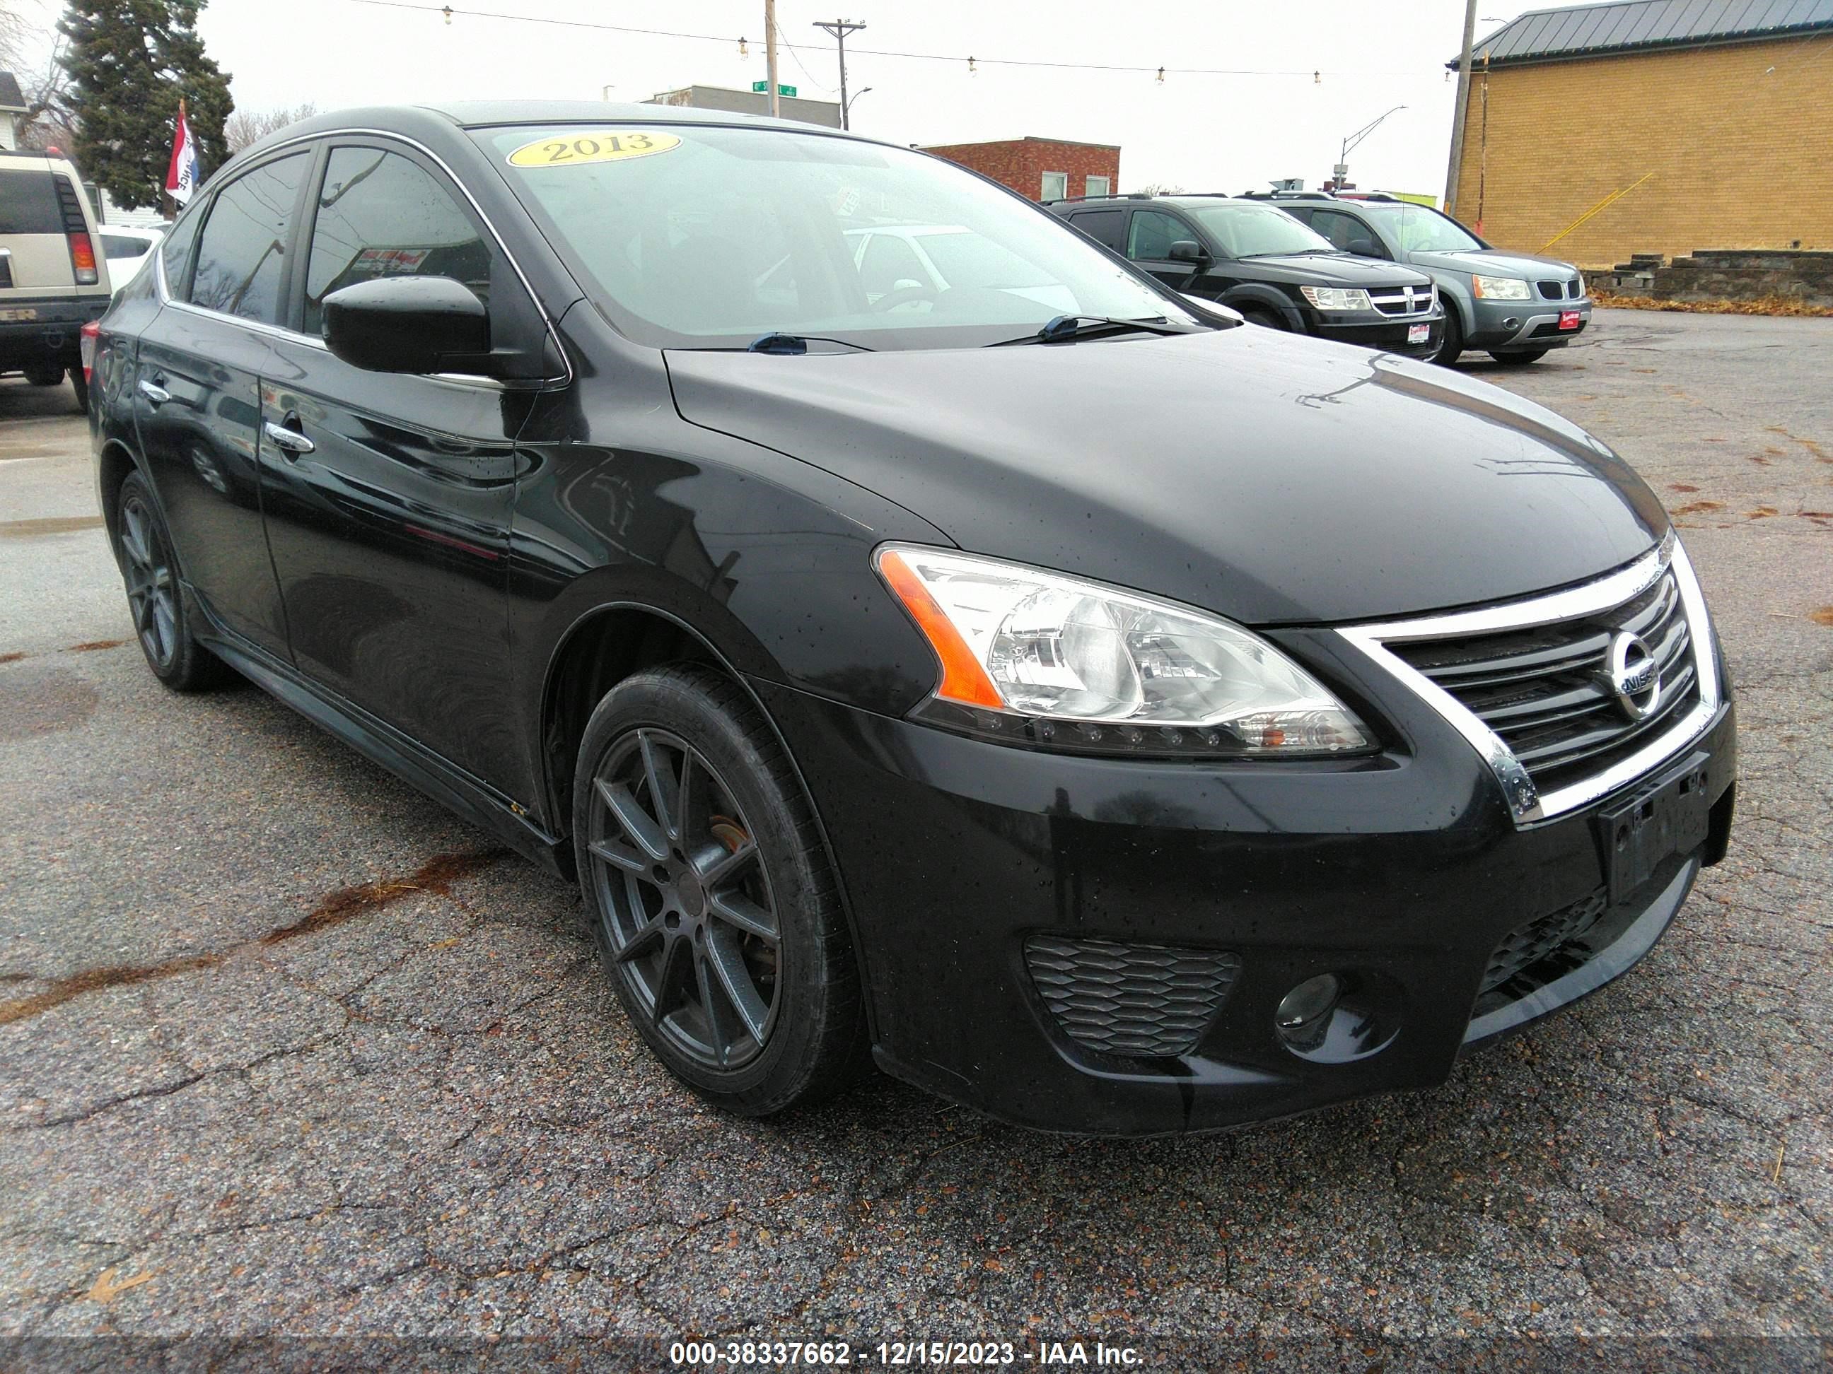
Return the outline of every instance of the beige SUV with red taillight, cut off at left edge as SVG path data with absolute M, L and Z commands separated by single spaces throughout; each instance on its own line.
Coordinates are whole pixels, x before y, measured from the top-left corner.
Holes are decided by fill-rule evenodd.
M 70 374 L 88 409 L 82 326 L 108 308 L 108 260 L 77 169 L 42 152 L 0 152 L 0 372 L 35 387 Z

